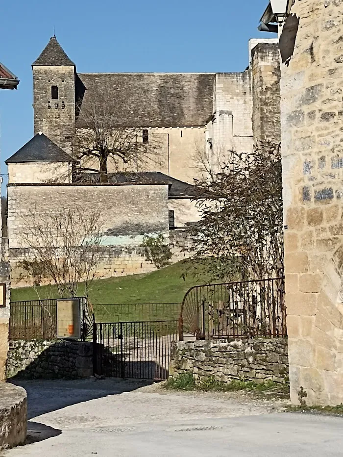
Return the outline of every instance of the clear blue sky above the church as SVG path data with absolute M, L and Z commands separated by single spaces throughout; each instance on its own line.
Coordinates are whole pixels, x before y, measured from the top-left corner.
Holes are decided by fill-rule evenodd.
M 1 6 L 0 61 L 21 82 L 0 91 L 3 160 L 33 136 L 31 63 L 53 35 L 79 72 L 235 72 L 268 0 L 18 0 Z

